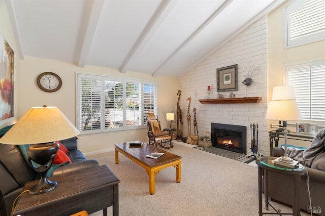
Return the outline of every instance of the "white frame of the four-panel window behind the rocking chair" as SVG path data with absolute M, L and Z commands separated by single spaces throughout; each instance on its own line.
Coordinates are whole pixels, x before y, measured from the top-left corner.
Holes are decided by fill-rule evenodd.
M 81 91 L 80 91 L 80 81 L 82 78 L 91 78 L 94 77 L 95 79 L 101 79 L 102 83 L 102 90 L 101 90 L 101 126 L 100 128 L 94 128 L 94 129 L 87 129 L 83 130 L 82 129 L 82 116 L 81 116 Z M 116 80 L 120 81 L 123 83 L 123 90 L 122 90 L 122 111 L 123 111 L 123 124 L 121 127 L 107 127 L 105 125 L 105 120 L 103 122 L 103 119 L 105 119 L 105 112 L 107 108 L 106 104 L 106 92 L 105 92 L 105 85 L 107 84 L 107 80 Z M 126 82 L 137 82 L 141 83 L 141 109 L 139 107 L 139 112 L 138 115 L 140 116 L 139 119 L 139 125 L 127 125 L 126 121 Z M 88 73 L 81 73 L 81 72 L 76 72 L 76 126 L 78 130 L 80 131 L 80 135 L 87 135 L 87 134 L 99 134 L 99 133 L 109 133 L 109 132 L 116 132 L 116 131 L 124 131 L 124 130 L 130 130 L 130 129 L 141 129 L 141 128 L 147 128 L 147 124 L 145 121 L 145 112 L 146 110 L 144 109 L 144 97 L 145 97 L 145 90 L 144 90 L 144 85 L 152 85 L 153 89 L 150 92 L 150 96 L 153 95 L 153 105 L 150 105 L 150 107 L 153 107 L 154 113 L 156 115 L 157 113 L 157 102 L 158 102 L 158 82 L 156 81 L 148 81 L 148 80 L 142 80 L 142 79 L 133 79 L 133 78 L 123 78 L 123 77 L 114 77 L 114 76 L 105 76 L 105 75 L 97 75 L 97 74 L 88 74 Z M 151 90 L 151 89 L 150 89 Z M 150 101 L 151 102 L 151 101 Z

